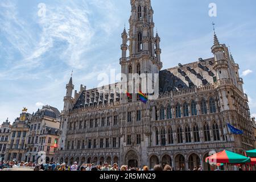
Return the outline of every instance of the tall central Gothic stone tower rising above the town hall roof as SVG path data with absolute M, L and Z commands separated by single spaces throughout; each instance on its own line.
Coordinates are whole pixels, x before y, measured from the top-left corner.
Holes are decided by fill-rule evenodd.
M 130 29 L 128 34 L 126 28 L 122 32 L 122 57 L 120 59 L 121 73 L 126 76 L 127 81 L 130 81 L 132 77 L 130 74 L 144 73 L 146 77 L 147 73 L 158 74 L 163 67 L 160 58 L 160 37 L 158 33 L 154 35 L 153 14 L 150 0 L 131 0 Z M 138 93 L 142 86 L 147 88 L 147 85 L 135 85 L 132 90 L 129 86 L 127 85 L 127 90 L 132 94 Z M 147 91 L 144 89 L 145 93 Z M 137 101 L 137 98 L 133 97 L 133 101 Z

